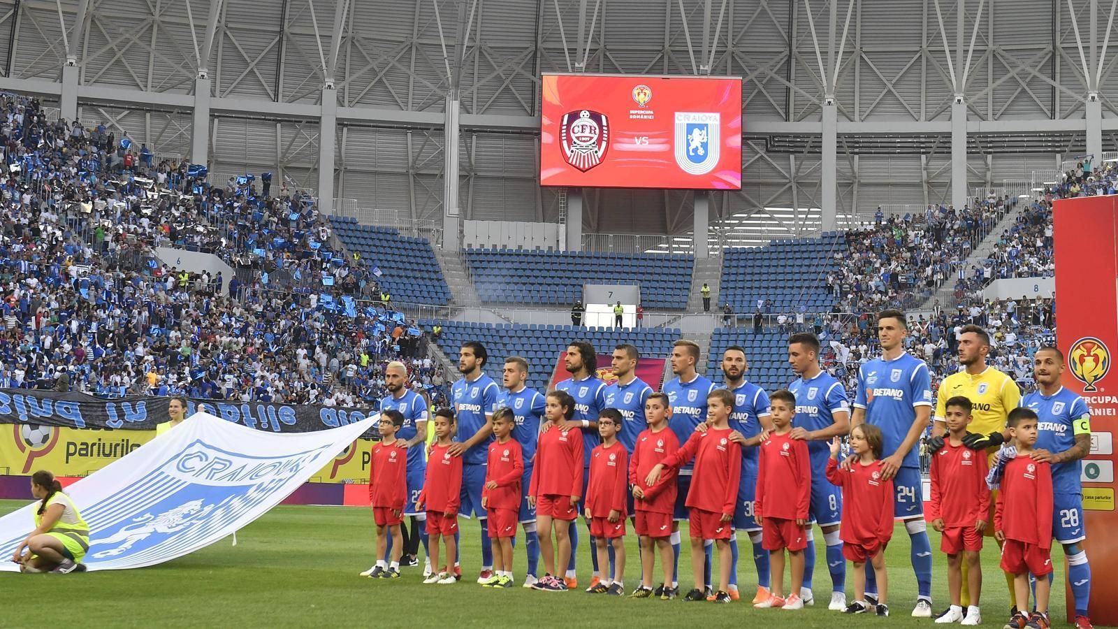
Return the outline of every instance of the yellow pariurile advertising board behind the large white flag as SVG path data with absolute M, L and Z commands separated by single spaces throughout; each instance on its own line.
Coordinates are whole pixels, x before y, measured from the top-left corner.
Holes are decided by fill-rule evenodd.
M 34 424 L 0 425 L 0 475 L 85 477 L 155 439 L 153 430 L 72 429 Z M 311 477 L 311 482 L 364 482 L 369 449 L 359 439 Z

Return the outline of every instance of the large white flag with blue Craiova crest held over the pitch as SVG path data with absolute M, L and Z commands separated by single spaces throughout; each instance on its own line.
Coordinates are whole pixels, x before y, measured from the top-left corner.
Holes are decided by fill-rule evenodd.
M 268 433 L 196 413 L 66 489 L 89 525 L 88 570 L 143 567 L 222 539 L 280 504 L 377 416 L 342 428 Z M 0 517 L 0 571 L 35 528 L 38 501 Z

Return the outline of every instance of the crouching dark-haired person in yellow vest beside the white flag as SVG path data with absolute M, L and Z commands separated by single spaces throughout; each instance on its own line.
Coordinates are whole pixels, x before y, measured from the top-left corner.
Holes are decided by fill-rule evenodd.
M 31 495 L 42 500 L 35 511 L 35 531 L 19 543 L 11 561 L 21 572 L 82 571 L 89 550 L 89 525 L 63 494 L 55 475 L 39 470 L 31 475 Z

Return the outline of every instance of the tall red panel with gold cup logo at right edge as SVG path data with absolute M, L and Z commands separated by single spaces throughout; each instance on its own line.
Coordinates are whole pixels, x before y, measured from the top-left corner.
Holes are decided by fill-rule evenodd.
M 1091 409 L 1091 451 L 1082 461 L 1083 527 L 1097 584 L 1091 619 L 1118 625 L 1118 598 L 1106 583 L 1118 583 L 1118 511 L 1115 510 L 1114 433 L 1118 430 L 1118 196 L 1081 197 L 1054 203 L 1057 339 L 1067 357 L 1063 386 Z M 1108 473 L 1108 470 L 1110 472 Z M 1057 514 L 1060 517 L 1060 514 Z M 1064 514 L 1064 517 L 1068 517 Z M 1071 523 L 1076 526 L 1074 523 Z M 1059 552 L 1053 548 L 1053 552 Z M 1067 589 L 1068 620 L 1073 621 Z

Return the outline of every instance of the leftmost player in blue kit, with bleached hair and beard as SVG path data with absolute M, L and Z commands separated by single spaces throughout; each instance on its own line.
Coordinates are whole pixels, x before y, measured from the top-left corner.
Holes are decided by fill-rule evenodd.
M 427 444 L 427 415 L 429 413 L 427 398 L 408 387 L 408 368 L 399 360 L 392 360 L 385 367 L 385 388 L 388 389 L 380 401 L 380 412 L 399 411 L 404 415 L 404 425 L 396 433 L 397 441 L 408 449 L 408 498 L 404 505 L 404 515 L 411 518 L 411 526 L 400 525 L 404 534 L 404 555 L 400 565 L 418 565 L 416 557 L 419 543 L 423 542 L 424 554 L 427 553 L 427 513 L 416 506 L 416 499 L 423 490 L 426 460 L 424 449 Z M 410 528 L 410 534 L 408 529 Z M 386 556 L 392 552 L 392 537 L 388 537 Z M 386 560 L 387 561 L 387 560 Z M 372 570 L 372 569 L 370 569 Z M 430 576 L 430 558 L 424 564 L 424 578 Z

